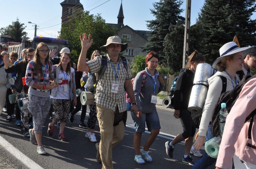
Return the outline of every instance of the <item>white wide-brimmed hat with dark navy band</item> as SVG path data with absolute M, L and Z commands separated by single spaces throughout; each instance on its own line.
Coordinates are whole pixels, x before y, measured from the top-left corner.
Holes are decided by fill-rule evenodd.
M 213 69 L 218 69 L 216 67 L 216 65 L 218 63 L 221 62 L 221 59 L 224 57 L 224 56 L 229 56 L 229 55 L 232 55 L 232 54 L 235 54 L 235 53 L 238 53 L 238 52 L 241 52 L 241 51 L 244 51 L 248 48 L 251 48 L 251 47 L 244 47 L 244 48 L 239 48 L 239 46 L 235 43 L 235 42 L 228 42 L 226 44 L 224 44 L 220 49 L 219 49 L 219 55 L 221 57 L 218 57 L 212 64 L 212 68 Z

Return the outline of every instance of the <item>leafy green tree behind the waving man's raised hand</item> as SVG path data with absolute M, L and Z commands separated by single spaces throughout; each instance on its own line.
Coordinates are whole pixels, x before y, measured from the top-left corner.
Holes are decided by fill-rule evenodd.
M 89 15 L 89 12 L 83 10 L 73 11 L 73 14 L 68 22 L 65 22 L 61 26 L 60 38 L 67 39 L 69 45 L 72 46 L 72 57 L 74 62 L 77 62 L 81 52 L 80 36 L 86 33 L 87 36 L 91 34 L 93 44 L 87 52 L 87 58 L 90 59 L 91 53 L 94 50 L 99 50 L 100 46 L 106 44 L 106 40 L 110 36 L 114 36 L 117 33 L 117 29 L 109 24 L 105 23 L 105 20 L 98 15 Z

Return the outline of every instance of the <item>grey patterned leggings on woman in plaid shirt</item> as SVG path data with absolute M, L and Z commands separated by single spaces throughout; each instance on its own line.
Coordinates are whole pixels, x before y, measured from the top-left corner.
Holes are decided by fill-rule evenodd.
M 43 124 L 51 107 L 51 97 L 28 94 L 28 111 L 32 114 L 35 134 L 42 134 Z

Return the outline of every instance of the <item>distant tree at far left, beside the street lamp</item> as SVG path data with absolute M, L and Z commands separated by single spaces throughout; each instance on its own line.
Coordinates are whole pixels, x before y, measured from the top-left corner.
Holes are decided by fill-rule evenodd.
M 22 42 L 22 38 L 28 35 L 27 32 L 24 32 L 25 28 L 24 23 L 20 23 L 17 18 L 16 21 L 12 22 L 11 25 L 7 27 L 1 27 L 0 33 L 2 35 L 9 35 L 12 37 L 14 42 Z

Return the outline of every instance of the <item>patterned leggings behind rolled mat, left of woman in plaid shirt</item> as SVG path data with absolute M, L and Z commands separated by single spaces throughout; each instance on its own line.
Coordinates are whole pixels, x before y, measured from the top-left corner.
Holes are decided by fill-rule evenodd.
M 24 93 L 23 89 L 20 93 L 16 92 L 17 101 L 20 98 L 24 98 L 24 97 L 27 97 L 27 94 Z M 17 107 L 16 107 L 16 109 L 17 109 Z M 32 114 L 29 113 L 28 109 L 23 109 L 23 110 L 20 110 L 20 115 L 21 115 L 21 121 L 22 121 L 22 124 L 23 124 L 23 131 L 28 132 L 28 130 L 29 130 L 28 121 L 32 117 Z

